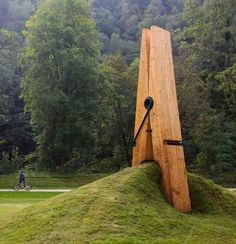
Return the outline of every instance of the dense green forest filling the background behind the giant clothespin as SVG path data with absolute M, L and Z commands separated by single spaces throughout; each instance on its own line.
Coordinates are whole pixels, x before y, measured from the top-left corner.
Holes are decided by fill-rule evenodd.
M 188 170 L 236 184 L 234 0 L 0 0 L 0 174 L 130 165 L 151 25 L 172 35 Z

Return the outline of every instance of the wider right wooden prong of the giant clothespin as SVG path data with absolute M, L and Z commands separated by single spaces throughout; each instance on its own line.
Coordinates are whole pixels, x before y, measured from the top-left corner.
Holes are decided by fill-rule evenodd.
M 151 114 L 154 158 L 159 159 L 162 168 L 168 201 L 177 210 L 188 212 L 191 206 L 183 148 L 164 144 L 165 140 L 182 140 L 168 31 L 151 28 L 150 58 L 150 94 L 157 102 Z

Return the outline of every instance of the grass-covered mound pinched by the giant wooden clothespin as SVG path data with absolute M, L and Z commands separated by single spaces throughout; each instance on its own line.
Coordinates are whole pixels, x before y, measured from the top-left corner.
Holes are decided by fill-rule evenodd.
M 193 212 L 169 206 L 154 163 L 128 168 L 18 213 L 0 243 L 235 243 L 236 197 L 189 176 Z

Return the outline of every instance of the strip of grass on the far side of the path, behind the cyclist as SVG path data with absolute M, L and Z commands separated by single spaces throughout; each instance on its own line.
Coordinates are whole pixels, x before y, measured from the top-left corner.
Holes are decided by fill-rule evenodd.
M 37 188 L 75 188 L 86 185 L 95 180 L 101 179 L 107 174 L 80 174 L 78 176 L 65 175 L 42 175 L 32 174 L 27 176 L 27 184 L 30 184 L 33 189 Z M 0 189 L 12 189 L 18 182 L 18 175 L 1 176 Z

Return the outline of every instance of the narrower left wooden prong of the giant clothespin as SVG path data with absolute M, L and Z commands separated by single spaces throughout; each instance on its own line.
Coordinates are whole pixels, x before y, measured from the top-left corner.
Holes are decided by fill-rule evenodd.
M 141 53 L 139 64 L 139 80 L 137 89 L 137 102 L 136 102 L 136 117 L 135 117 L 135 130 L 136 135 L 146 109 L 144 107 L 144 100 L 148 97 L 148 83 L 149 83 L 149 55 L 150 55 L 150 30 L 144 29 L 141 41 Z M 138 166 L 141 162 L 146 160 L 146 149 L 152 147 L 150 139 L 147 140 L 148 120 L 145 121 L 142 130 L 136 140 L 136 146 L 133 148 L 132 165 Z M 149 136 L 150 137 L 150 136 Z M 149 155 L 150 156 L 150 152 Z

